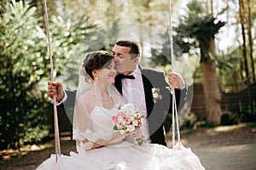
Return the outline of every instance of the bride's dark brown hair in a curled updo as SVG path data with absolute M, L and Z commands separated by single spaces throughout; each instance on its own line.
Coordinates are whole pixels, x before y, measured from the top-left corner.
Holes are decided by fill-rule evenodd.
M 84 71 L 93 80 L 92 71 L 107 68 L 111 64 L 113 59 L 112 54 L 108 54 L 106 51 L 96 51 L 85 55 L 83 61 Z

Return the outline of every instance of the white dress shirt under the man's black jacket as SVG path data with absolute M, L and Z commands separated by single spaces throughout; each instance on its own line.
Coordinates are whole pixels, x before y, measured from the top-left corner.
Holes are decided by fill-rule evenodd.
M 125 102 L 137 105 L 138 110 L 141 113 L 145 113 L 147 112 L 147 106 L 143 87 L 143 77 L 138 66 L 137 69 L 131 73 L 131 75 L 133 75 L 135 79 L 122 79 L 122 93 L 125 98 Z M 147 142 L 150 143 L 147 119 L 144 119 L 141 131 Z

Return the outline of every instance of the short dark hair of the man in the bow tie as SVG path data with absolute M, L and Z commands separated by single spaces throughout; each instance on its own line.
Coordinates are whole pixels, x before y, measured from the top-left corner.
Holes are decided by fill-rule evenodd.
M 131 54 L 132 58 L 141 57 L 142 55 L 142 46 L 138 42 L 132 40 L 119 40 L 115 42 L 115 44 L 121 47 L 131 48 L 129 54 Z

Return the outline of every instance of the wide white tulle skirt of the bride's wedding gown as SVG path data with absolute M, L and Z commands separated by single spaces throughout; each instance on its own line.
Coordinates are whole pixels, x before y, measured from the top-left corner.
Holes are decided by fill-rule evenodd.
M 160 144 L 119 144 L 86 151 L 61 155 L 55 161 L 51 155 L 37 170 L 203 170 L 198 156 L 182 144 L 173 149 Z

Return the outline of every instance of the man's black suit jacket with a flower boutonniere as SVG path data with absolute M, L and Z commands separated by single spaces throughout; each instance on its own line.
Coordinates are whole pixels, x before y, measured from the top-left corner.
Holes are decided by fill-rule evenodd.
M 166 138 L 164 133 L 164 121 L 167 113 L 172 113 L 172 94 L 169 90 L 170 86 L 166 82 L 166 76 L 163 71 L 156 71 L 153 69 L 139 67 L 142 71 L 143 88 L 145 94 L 145 101 L 147 106 L 147 119 L 151 142 L 154 144 L 166 145 Z M 122 94 L 122 82 L 119 75 L 115 77 L 115 87 Z M 159 88 L 162 99 L 154 103 L 152 88 Z M 76 90 L 66 91 L 67 101 L 65 107 L 74 107 Z M 187 90 L 175 90 L 175 97 L 177 108 L 184 103 L 186 99 Z

